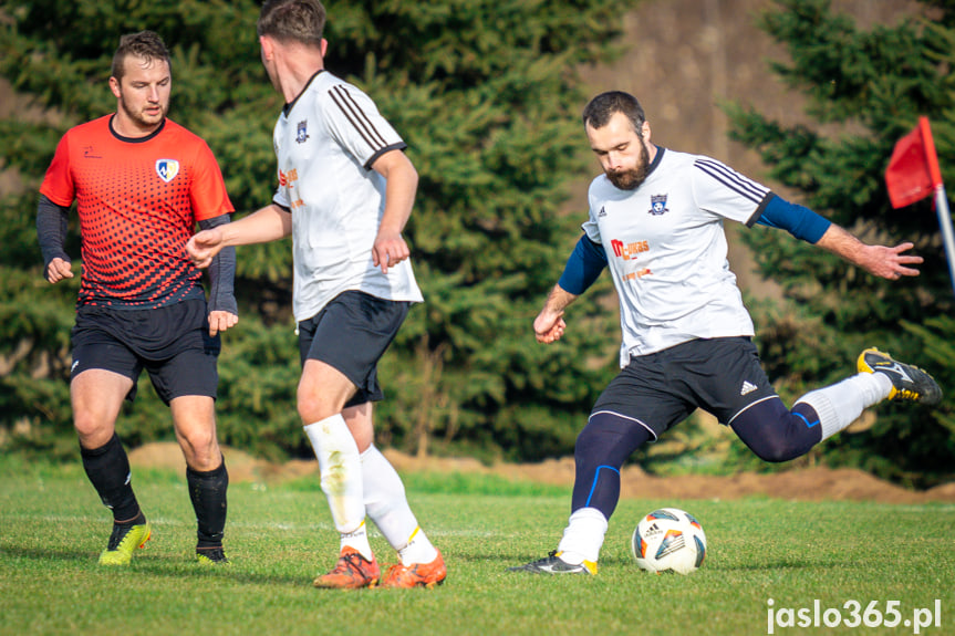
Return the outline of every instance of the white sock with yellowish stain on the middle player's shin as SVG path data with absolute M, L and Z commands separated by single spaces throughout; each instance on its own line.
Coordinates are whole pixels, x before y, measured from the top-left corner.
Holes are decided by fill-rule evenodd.
M 329 500 L 335 529 L 341 534 L 362 532 L 365 504 L 359 447 L 341 414 L 304 427 L 322 473 L 322 491 Z M 367 539 L 365 539 L 367 543 Z

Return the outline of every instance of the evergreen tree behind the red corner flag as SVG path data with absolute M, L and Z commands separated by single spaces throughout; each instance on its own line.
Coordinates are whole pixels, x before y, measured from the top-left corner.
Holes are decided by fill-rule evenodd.
M 946 390 L 936 410 L 879 407 L 868 431 L 820 447 L 851 463 L 909 483 L 952 473 L 955 453 L 955 331 L 952 282 L 931 201 L 889 204 L 884 170 L 895 142 L 927 115 L 943 177 L 955 184 L 955 2 L 923 2 L 925 17 L 863 31 L 828 0 L 777 0 L 761 28 L 783 43 L 774 71 L 801 91 L 814 126 L 786 126 L 741 105 L 727 108 L 734 137 L 757 148 L 772 180 L 868 242 L 915 243 L 922 275 L 889 282 L 778 231 L 744 232 L 762 273 L 780 282 L 785 306 L 755 303 L 759 344 L 777 387 L 790 399 L 852 371 L 879 346 L 928 369 Z M 931 18 L 930 18 L 931 17 Z

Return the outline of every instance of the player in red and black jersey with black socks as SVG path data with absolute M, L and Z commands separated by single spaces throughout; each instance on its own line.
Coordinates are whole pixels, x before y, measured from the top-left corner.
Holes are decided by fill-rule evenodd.
M 124 35 L 110 88 L 116 112 L 71 128 L 40 188 L 37 230 L 51 283 L 73 278 L 64 251 L 75 199 L 83 259 L 70 396 L 83 468 L 113 511 L 103 565 L 127 565 L 152 534 L 116 435 L 124 399 L 148 372 L 173 414 L 198 524 L 196 559 L 222 549 L 229 482 L 216 436 L 219 333 L 233 326 L 235 250 L 209 268 L 210 294 L 186 253 L 198 222 L 229 222 L 222 175 L 206 143 L 166 117 L 169 52 L 149 31 Z

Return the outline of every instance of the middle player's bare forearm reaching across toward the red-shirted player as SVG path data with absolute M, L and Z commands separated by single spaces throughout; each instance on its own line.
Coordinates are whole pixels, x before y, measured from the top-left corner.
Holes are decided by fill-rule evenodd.
M 186 243 L 186 251 L 197 268 L 207 268 L 222 248 L 267 243 L 292 233 L 292 215 L 270 204 L 226 226 L 196 232 Z

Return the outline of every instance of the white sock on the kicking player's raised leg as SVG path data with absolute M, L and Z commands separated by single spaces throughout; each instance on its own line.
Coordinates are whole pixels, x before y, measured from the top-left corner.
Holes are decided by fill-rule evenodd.
M 802 402 L 816 410 L 822 426 L 822 439 L 828 439 L 855 421 L 864 409 L 889 397 L 891 392 L 892 380 L 884 373 L 860 373 L 811 390 L 796 404 Z

